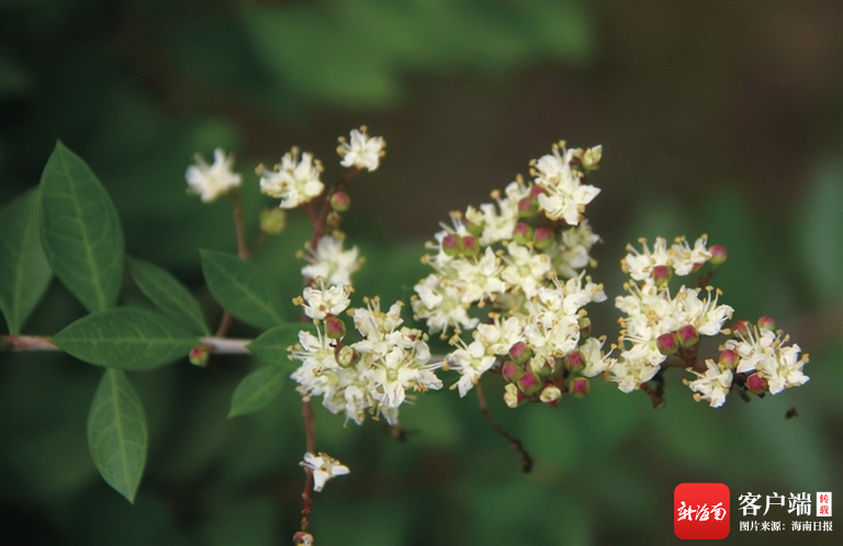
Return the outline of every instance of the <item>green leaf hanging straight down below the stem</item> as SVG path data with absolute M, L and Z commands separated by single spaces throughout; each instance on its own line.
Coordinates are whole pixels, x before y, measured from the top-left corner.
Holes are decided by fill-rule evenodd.
M 146 417 L 120 369 L 106 369 L 88 414 L 88 447 L 103 479 L 134 504 L 146 464 Z

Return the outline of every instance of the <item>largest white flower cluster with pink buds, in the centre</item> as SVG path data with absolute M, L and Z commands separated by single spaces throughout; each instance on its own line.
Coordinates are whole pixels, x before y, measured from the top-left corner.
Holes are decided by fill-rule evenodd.
M 532 180 L 518 177 L 492 193 L 495 203 L 452 213 L 452 225 L 428 243 L 435 252 L 424 261 L 435 272 L 415 286 L 413 310 L 431 333 L 454 331 L 446 364 L 461 376 L 453 386 L 461 396 L 503 363 L 509 406 L 557 403 L 565 391 L 587 390 L 575 378 L 609 364 L 603 341 L 588 339 L 583 308 L 606 299 L 583 272 L 599 241 L 582 216 L 599 193 L 585 183 L 599 158 L 599 146 L 554 145 L 531 163 Z M 482 321 L 473 310 L 486 306 Z M 463 330 L 474 330 L 473 341 L 460 338 Z M 578 364 L 565 367 L 569 357 Z

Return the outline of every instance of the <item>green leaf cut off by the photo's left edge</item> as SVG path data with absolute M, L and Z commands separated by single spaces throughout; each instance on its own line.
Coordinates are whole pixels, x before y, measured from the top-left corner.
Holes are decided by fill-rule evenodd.
M 21 332 L 53 276 L 41 248 L 37 205 L 36 189 L 0 213 L 0 309 L 13 334 Z

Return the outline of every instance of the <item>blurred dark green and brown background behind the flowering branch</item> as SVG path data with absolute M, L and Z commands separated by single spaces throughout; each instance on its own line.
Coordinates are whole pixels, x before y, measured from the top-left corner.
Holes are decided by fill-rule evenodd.
M 510 411 L 491 377 L 491 411 L 536 458 L 530 475 L 473 394 L 402 410 L 403 444 L 317 408 L 318 448 L 352 473 L 315 494 L 312 531 L 321 546 L 677 544 L 673 489 L 713 481 L 732 491 L 727 543 L 793 544 L 790 531 L 740 533 L 737 504 L 748 491 L 843 498 L 841 21 L 833 2 L 3 0 L 0 202 L 37 184 L 60 138 L 115 201 L 127 252 L 188 283 L 216 323 L 198 249 L 233 251 L 235 239 L 225 200 L 184 195 L 195 151 L 237 152 L 254 219 L 269 204 L 257 163 L 299 145 L 333 180 L 337 136 L 363 123 L 383 135 L 387 156 L 355 182 L 346 227 L 367 257 L 357 295 L 390 303 L 426 274 L 422 243 L 449 211 L 487 201 L 560 138 L 602 144 L 588 216 L 610 297 L 628 241 L 707 231 L 730 251 L 713 280 L 723 300 L 735 318 L 775 317 L 811 353 L 810 383 L 711 410 L 668 374 L 660 411 L 611 385 L 555 410 Z M 292 297 L 310 236 L 290 221 L 256 261 Z M 123 300 L 142 297 L 127 286 Z M 611 304 L 591 312 L 616 334 Z M 82 314 L 54 281 L 25 332 Z M 216 357 L 132 374 L 150 453 L 131 507 L 88 455 L 100 371 L 2 353 L 2 543 L 289 544 L 305 451 L 297 395 L 288 385 L 270 409 L 225 419 L 255 365 Z M 791 407 L 799 417 L 786 420 Z M 795 519 L 778 517 L 788 530 Z M 833 520 L 833 533 L 798 542 L 839 544 Z

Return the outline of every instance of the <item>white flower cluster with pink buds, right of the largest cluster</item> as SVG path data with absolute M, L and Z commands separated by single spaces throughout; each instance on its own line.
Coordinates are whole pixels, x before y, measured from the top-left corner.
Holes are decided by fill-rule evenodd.
M 657 238 L 652 250 L 645 240 L 640 242 L 642 251 L 630 246 L 621 261 L 621 269 L 630 275 L 625 284 L 629 295 L 615 299 L 615 307 L 625 317 L 620 319 L 620 357 L 609 366 L 608 378 L 623 393 L 637 390 L 652 379 L 667 355 L 696 352 L 699 337 L 720 333 L 723 322 L 732 316 L 732 308 L 718 305 L 720 293 L 710 287 L 705 295 L 700 288 L 686 285 L 675 295 L 671 292 L 673 274 L 686 276 L 712 259 L 705 235 L 693 248 L 684 238 L 677 238 L 671 247 Z M 721 253 L 719 248 L 715 253 Z

